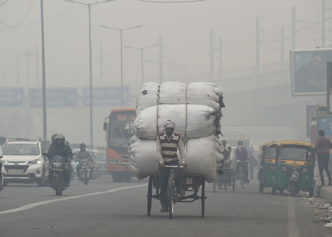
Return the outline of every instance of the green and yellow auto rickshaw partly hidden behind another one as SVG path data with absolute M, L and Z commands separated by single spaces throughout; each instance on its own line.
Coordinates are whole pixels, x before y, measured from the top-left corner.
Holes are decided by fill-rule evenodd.
M 262 146 L 262 159 L 258 174 L 260 182 L 260 193 L 265 187 L 272 187 L 272 177 L 274 176 L 276 148 L 280 141 L 267 141 Z M 279 190 L 283 192 L 283 190 Z

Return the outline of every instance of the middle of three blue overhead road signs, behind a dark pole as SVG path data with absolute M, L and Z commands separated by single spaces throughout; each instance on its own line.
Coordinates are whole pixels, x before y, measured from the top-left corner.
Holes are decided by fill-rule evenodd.
M 30 107 L 42 106 L 42 89 L 30 89 Z M 77 107 L 77 88 L 46 89 L 46 106 L 53 108 Z

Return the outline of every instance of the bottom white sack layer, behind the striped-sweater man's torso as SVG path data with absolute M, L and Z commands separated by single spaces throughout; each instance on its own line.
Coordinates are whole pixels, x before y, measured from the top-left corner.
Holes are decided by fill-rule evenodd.
M 155 140 L 142 140 L 133 136 L 128 150 L 132 170 L 138 179 L 144 179 L 150 174 L 158 174 Z M 178 157 L 180 159 L 179 152 Z M 185 169 L 185 174 L 203 175 L 208 183 L 212 183 L 216 178 L 218 164 L 223 159 L 216 136 L 189 139 L 186 158 L 188 168 Z

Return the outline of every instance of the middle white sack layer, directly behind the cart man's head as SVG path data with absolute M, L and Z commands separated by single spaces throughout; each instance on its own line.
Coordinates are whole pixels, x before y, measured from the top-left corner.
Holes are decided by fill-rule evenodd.
M 158 109 L 158 121 L 157 121 Z M 219 131 L 219 114 L 204 105 L 187 105 L 187 139 L 206 137 Z M 132 124 L 135 134 L 142 139 L 156 139 L 156 126 L 162 132 L 164 122 L 173 119 L 175 133 L 184 137 L 186 131 L 186 105 L 159 105 L 141 111 Z M 215 126 L 215 122 L 217 126 Z

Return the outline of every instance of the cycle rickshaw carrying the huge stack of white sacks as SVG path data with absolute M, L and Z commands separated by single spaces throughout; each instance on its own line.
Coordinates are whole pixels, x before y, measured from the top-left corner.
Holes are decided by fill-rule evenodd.
M 174 204 L 178 202 L 194 202 L 196 200 L 201 200 L 202 202 L 202 217 L 204 217 L 205 212 L 205 180 L 203 175 L 194 174 L 181 174 L 182 185 L 186 192 L 192 192 L 190 195 L 181 197 L 175 186 L 174 170 L 179 168 L 178 166 L 166 166 L 170 169 L 169 176 L 169 186 L 168 186 L 168 200 L 169 200 L 169 214 L 170 218 L 173 218 L 173 208 Z M 181 168 L 181 167 L 180 167 Z M 202 186 L 202 187 L 201 187 Z M 155 189 L 155 194 L 152 194 L 152 190 Z M 201 196 L 198 195 L 198 191 L 201 189 Z M 149 177 L 149 183 L 147 188 L 147 215 L 151 215 L 151 205 L 152 198 L 159 200 L 159 175 L 151 174 Z M 189 199 L 189 200 L 188 200 Z

